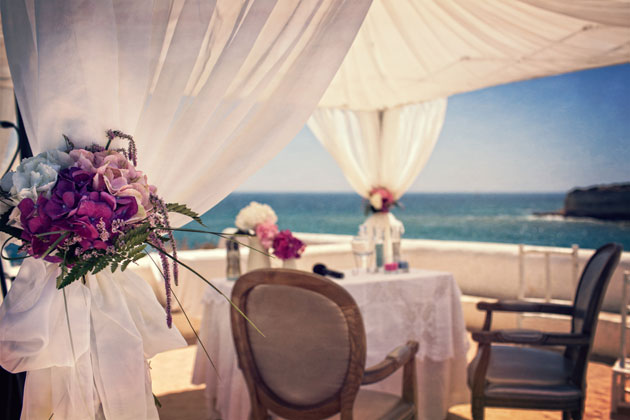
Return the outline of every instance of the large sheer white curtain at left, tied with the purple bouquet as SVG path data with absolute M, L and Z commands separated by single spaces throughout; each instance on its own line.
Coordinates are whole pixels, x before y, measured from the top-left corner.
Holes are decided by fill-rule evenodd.
M 2 0 L 1 12 L 34 153 L 122 130 L 158 192 L 203 212 L 303 126 L 370 2 Z M 0 307 L 0 363 L 29 371 L 22 419 L 157 419 L 145 357 L 185 343 L 149 285 L 103 271 L 64 296 L 58 270 L 28 259 Z

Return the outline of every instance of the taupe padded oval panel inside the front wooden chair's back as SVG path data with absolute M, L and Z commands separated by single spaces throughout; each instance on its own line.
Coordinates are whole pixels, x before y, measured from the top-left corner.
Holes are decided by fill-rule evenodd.
M 308 406 L 339 392 L 350 339 L 337 304 L 298 287 L 260 285 L 249 293 L 247 315 L 265 334 L 247 325 L 258 372 L 276 396 Z

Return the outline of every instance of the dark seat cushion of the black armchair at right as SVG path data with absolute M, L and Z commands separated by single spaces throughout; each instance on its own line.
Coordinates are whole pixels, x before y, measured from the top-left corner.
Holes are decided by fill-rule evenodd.
M 472 388 L 480 353 L 468 365 Z M 486 374 L 486 397 L 565 401 L 582 396 L 570 382 L 573 365 L 561 353 L 531 347 L 493 345 Z

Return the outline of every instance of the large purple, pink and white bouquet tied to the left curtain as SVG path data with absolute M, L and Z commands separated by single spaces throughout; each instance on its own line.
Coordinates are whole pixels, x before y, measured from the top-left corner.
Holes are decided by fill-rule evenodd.
M 109 149 L 117 137 L 128 141 L 128 149 Z M 178 268 L 168 213 L 201 223 L 199 215 L 157 196 L 156 187 L 136 169 L 131 136 L 109 130 L 106 147 L 86 148 L 65 139 L 65 151 L 24 159 L 2 178 L 0 231 L 20 240 L 28 256 L 58 263 L 58 289 L 107 267 L 124 271 L 146 255 L 147 245 L 154 247 L 162 259 L 170 327 L 170 280 L 177 284 Z

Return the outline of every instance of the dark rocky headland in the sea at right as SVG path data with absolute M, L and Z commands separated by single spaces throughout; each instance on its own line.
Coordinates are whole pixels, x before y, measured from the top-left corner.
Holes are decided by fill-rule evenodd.
M 630 183 L 574 188 L 564 199 L 567 217 L 630 220 Z

